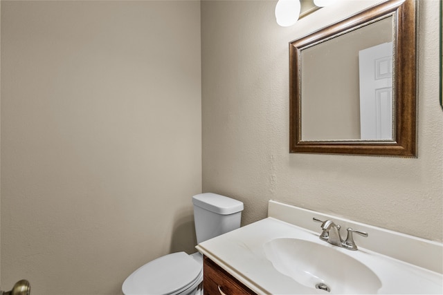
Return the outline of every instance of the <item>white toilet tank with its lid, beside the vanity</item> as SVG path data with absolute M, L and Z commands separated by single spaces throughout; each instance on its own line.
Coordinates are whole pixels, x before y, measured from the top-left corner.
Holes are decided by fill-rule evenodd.
M 238 229 L 242 221 L 243 203 L 217 195 L 200 193 L 192 197 L 197 244 Z

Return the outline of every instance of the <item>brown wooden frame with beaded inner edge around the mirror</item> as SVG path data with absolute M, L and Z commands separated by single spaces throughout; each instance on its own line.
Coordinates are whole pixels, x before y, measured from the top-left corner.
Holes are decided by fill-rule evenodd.
M 418 0 L 390 0 L 289 44 L 289 152 L 417 157 Z M 393 140 L 302 141 L 301 50 L 368 23 L 394 16 Z

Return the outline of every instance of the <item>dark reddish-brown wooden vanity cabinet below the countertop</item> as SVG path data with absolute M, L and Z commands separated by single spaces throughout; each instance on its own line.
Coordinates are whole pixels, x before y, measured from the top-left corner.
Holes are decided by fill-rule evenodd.
M 204 257 L 203 272 L 204 295 L 255 294 L 206 256 Z

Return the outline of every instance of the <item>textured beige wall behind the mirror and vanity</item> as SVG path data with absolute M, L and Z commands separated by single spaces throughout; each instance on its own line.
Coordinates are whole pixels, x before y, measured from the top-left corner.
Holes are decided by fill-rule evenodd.
M 279 27 L 276 1 L 201 4 L 203 189 L 245 203 L 243 222 L 279 200 L 443 240 L 439 1 L 422 1 L 419 157 L 289 154 L 289 41 L 375 1 L 323 8 Z

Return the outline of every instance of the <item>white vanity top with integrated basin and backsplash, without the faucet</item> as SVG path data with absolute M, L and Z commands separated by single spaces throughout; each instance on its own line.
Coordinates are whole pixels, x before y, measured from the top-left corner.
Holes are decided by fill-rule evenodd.
M 443 294 L 442 242 L 286 204 L 279 209 L 197 249 L 256 294 Z M 356 237 L 357 251 L 331 245 L 320 240 L 313 216 L 370 236 Z

